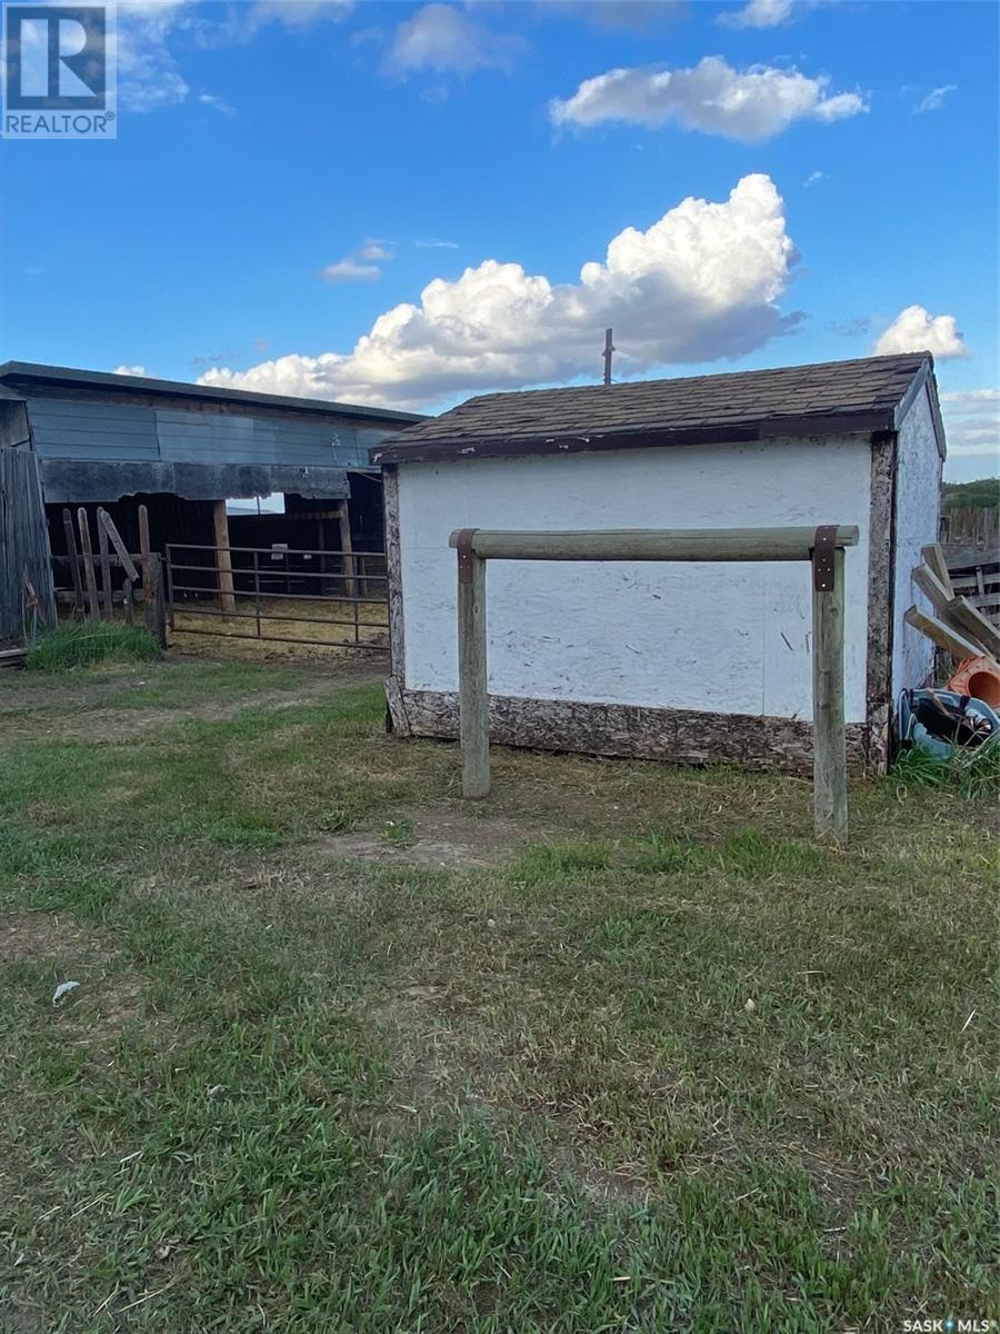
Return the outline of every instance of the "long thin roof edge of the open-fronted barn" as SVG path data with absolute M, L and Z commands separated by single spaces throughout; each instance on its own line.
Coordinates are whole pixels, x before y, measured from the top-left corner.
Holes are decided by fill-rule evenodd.
M 369 408 L 356 403 L 335 403 L 327 399 L 304 399 L 288 394 L 255 394 L 249 390 L 224 390 L 213 384 L 188 384 L 183 380 L 153 380 L 145 375 L 112 375 L 105 371 L 76 371 L 65 366 L 39 366 L 35 362 L 4 362 L 0 364 L 0 387 L 8 391 L 43 392 L 55 390 L 104 391 L 125 398 L 159 396 L 163 399 L 199 399 L 204 403 L 237 404 L 247 408 L 281 408 L 309 415 L 337 415 L 361 418 L 380 424 L 423 422 L 419 412 L 397 412 L 393 408 Z M 4 398 L 8 395 L 5 394 Z M 12 395 L 11 395 L 12 396 Z

